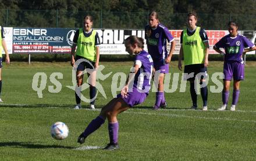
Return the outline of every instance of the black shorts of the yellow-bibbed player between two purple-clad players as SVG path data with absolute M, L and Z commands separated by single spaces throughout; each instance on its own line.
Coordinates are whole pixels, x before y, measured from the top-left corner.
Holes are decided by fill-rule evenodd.
M 191 73 L 194 73 L 193 76 L 189 75 Z M 204 64 L 185 65 L 185 67 L 184 67 L 184 80 L 185 81 L 194 81 L 195 76 L 197 74 L 200 75 L 200 79 L 207 78 L 207 76 L 208 76 L 207 75 L 207 67 L 205 67 Z

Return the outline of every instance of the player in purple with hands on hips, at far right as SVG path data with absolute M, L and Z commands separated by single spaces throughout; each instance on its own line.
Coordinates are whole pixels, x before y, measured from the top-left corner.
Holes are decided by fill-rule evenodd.
M 221 53 L 225 56 L 224 66 L 223 66 L 223 74 L 224 74 L 224 89 L 222 91 L 222 102 L 223 105 L 219 108 L 219 111 L 223 111 L 227 107 L 227 101 L 229 98 L 229 86 L 232 80 L 233 83 L 233 100 L 232 106 L 230 108 L 231 111 L 236 110 L 236 104 L 239 99 L 239 87 L 240 81 L 244 79 L 244 61 L 243 54 L 246 52 L 251 52 L 256 50 L 255 45 L 250 42 L 245 36 L 239 35 L 238 24 L 234 21 L 230 21 L 228 23 L 229 34 L 224 36 L 219 42 L 217 42 L 214 46 L 214 50 L 218 53 Z M 245 49 L 250 47 L 249 49 Z M 222 52 L 219 48 L 224 48 L 225 53 Z

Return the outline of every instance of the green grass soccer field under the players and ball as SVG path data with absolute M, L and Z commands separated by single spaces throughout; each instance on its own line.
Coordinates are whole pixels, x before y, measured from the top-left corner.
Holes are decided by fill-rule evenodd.
M 241 82 L 237 111 L 216 111 L 222 104 L 221 93 L 208 93 L 208 111 L 190 110 L 189 83 L 186 92 L 166 93 L 168 108 L 153 111 L 155 93 L 150 93 L 141 105 L 118 116 L 119 145 L 117 151 L 103 151 L 108 142 L 108 123 L 91 134 L 82 145 L 77 137 L 112 98 L 111 82 L 116 72 L 129 73 L 132 62 L 102 62 L 102 74 L 112 74 L 99 83 L 101 93 L 96 100 L 97 111 L 88 110 L 83 103 L 74 110 L 72 67 L 69 63 L 16 63 L 2 69 L 3 89 L 0 104 L 0 160 L 256 160 L 256 63 L 247 62 L 246 79 Z M 221 61 L 209 63 L 208 74 L 222 72 Z M 181 73 L 173 61 L 171 72 Z M 37 72 L 47 75 L 42 98 L 32 89 Z M 48 92 L 53 86 L 49 77 L 61 72 L 61 91 Z M 221 81 L 221 80 L 220 80 Z M 172 79 L 170 81 L 172 83 Z M 180 80 L 179 80 L 180 85 Z M 178 89 L 179 89 L 178 85 Z M 209 81 L 209 86 L 214 86 Z M 232 96 L 233 88 L 230 88 Z M 84 90 L 88 97 L 88 90 Z M 229 105 L 232 97 L 229 97 Z M 54 140 L 50 127 L 54 122 L 65 122 L 69 136 Z

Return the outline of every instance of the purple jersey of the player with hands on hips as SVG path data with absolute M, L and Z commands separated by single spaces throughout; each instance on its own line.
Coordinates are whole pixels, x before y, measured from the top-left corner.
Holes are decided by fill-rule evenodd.
M 254 47 L 254 44 L 243 35 L 238 34 L 236 37 L 232 38 L 229 34 L 221 38 L 221 40 L 215 44 L 215 47 L 225 49 L 225 61 L 243 62 L 242 54 L 244 48 Z

